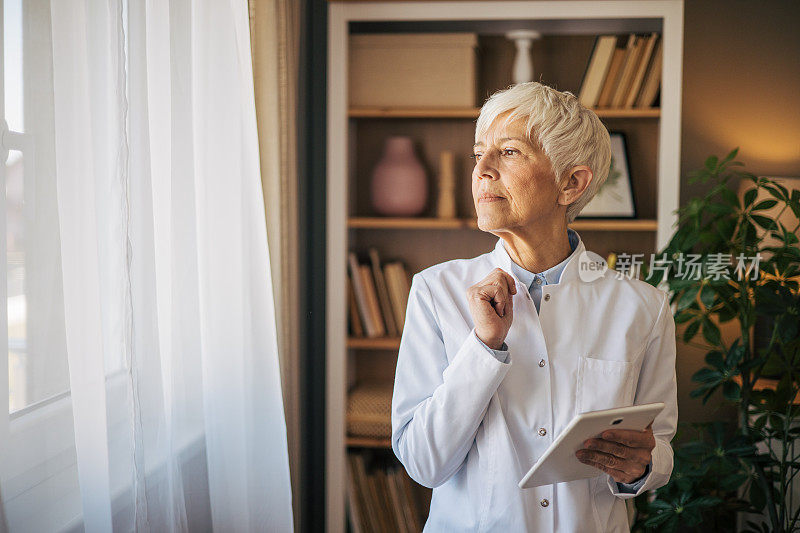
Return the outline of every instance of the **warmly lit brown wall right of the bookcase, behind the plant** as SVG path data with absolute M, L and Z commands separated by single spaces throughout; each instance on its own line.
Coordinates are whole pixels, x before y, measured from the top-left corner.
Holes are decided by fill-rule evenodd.
M 800 2 L 687 0 L 684 13 L 681 175 L 739 146 L 750 172 L 800 176 Z M 684 178 L 681 204 L 704 190 Z M 703 355 L 678 346 L 682 421 L 730 412 L 689 398 Z

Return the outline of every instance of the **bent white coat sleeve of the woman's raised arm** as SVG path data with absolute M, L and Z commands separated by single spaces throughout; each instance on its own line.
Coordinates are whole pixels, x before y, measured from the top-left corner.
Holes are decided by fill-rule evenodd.
M 474 328 L 448 362 L 441 327 L 430 287 L 415 274 L 395 372 L 392 450 L 409 476 L 428 488 L 462 466 L 511 366 L 487 350 Z

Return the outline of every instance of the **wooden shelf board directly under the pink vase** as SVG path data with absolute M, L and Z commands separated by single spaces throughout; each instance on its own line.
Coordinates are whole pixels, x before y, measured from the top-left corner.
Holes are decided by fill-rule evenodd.
M 351 229 L 478 229 L 472 218 L 400 218 L 400 217 L 351 217 L 347 220 Z M 575 231 L 656 231 L 655 219 L 586 219 L 576 220 L 570 227 Z

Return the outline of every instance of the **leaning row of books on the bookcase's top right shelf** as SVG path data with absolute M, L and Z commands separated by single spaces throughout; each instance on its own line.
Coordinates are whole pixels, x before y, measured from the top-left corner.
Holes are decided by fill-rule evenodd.
M 652 107 L 661 85 L 661 43 L 658 33 L 598 37 L 581 83 L 581 104 L 589 108 Z

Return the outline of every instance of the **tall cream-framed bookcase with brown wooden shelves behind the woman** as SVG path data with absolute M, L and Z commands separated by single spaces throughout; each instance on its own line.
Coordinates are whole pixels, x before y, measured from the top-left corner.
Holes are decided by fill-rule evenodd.
M 579 219 L 571 227 L 584 232 L 581 236 L 587 249 L 601 255 L 612 251 L 636 253 L 663 249 L 672 234 L 680 188 L 683 19 L 683 0 L 525 0 L 514 2 L 513 21 L 509 20 L 507 11 L 498 10 L 491 2 L 398 3 L 387 0 L 328 4 L 326 530 L 332 533 L 346 530 L 349 456 L 374 455 L 389 463 L 396 461 L 391 457 L 390 439 L 353 438 L 345 429 L 348 391 L 353 385 L 394 375 L 395 357 L 372 357 L 369 351 L 396 351 L 400 345 L 399 336 L 350 336 L 352 331 L 357 331 L 348 325 L 348 321 L 353 322 L 350 302 L 358 298 L 352 297 L 352 276 L 348 276 L 348 272 L 353 268 L 348 260 L 349 254 L 357 256 L 357 268 L 369 267 L 371 272 L 376 272 L 380 269 L 376 268 L 373 260 L 371 249 L 374 248 L 375 257 L 379 254 L 382 260 L 387 261 L 385 265 L 390 262 L 403 265 L 410 278 L 419 270 L 441 261 L 485 253 L 495 241 L 491 235 L 478 230 L 473 218 L 468 185 L 471 167 L 465 157 L 457 158 L 454 163 L 457 218 L 356 216 L 370 212 L 367 176 L 374 168 L 385 139 L 390 136 L 411 137 L 431 179 L 438 175 L 440 167 L 437 163 L 443 152 L 466 155 L 474 142 L 474 123 L 483 98 L 511 83 L 514 45 L 503 34 L 514 28 L 506 27 L 508 25 L 547 26 L 551 21 L 555 24 L 543 28 L 542 42 L 546 46 L 540 46 L 537 53 L 546 55 L 547 59 L 539 63 L 541 70 L 536 77 L 541 76 L 544 83 L 559 90 L 570 90 L 576 95 L 580 92 L 578 89 L 582 86 L 599 37 L 629 34 L 630 39 L 633 34 L 647 37 L 657 33 L 659 42 L 663 42 L 663 61 L 658 67 L 660 85 L 656 83 L 658 97 L 654 94 L 652 99 L 637 99 L 633 104 L 654 107 L 623 107 L 626 104 L 630 106 L 630 98 L 623 98 L 622 103 L 599 96 L 594 100 L 603 102 L 603 105 L 594 104 L 594 111 L 607 127 L 626 135 L 636 212 L 643 218 Z M 469 25 L 468 31 L 478 35 L 476 99 L 458 103 L 475 104 L 476 107 L 422 107 L 422 103 L 415 107 L 410 107 L 410 103 L 409 107 L 357 107 L 358 100 L 351 100 L 356 94 L 348 78 L 353 35 L 420 31 L 447 33 L 465 24 Z M 502 27 L 502 32 L 495 31 L 499 27 Z M 635 45 L 638 44 L 637 37 Z M 622 37 L 618 45 L 625 45 Z M 626 72 L 630 80 L 641 73 L 635 68 L 625 69 L 620 63 L 620 80 Z M 647 77 L 640 80 L 642 87 L 646 85 Z M 613 94 L 613 91 L 608 93 Z M 609 104 L 611 101 L 614 103 Z M 435 193 L 435 187 L 433 189 Z M 389 277 L 397 282 L 402 276 Z M 380 296 L 383 291 L 379 286 L 377 288 Z M 357 305 L 362 306 L 359 307 L 362 312 L 355 313 L 356 316 L 363 315 L 363 304 Z M 371 307 L 376 311 L 374 301 Z M 385 312 L 385 306 L 379 311 Z M 388 327 L 386 331 L 389 331 Z M 387 449 L 389 453 L 386 453 Z M 422 501 L 430 501 L 429 492 L 423 496 Z

